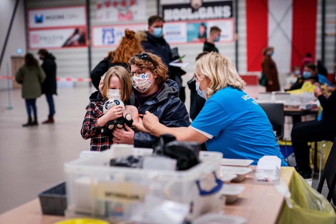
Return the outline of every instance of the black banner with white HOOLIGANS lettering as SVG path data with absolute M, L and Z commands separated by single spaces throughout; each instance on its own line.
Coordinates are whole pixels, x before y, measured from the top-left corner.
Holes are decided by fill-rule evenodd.
M 230 18 L 232 1 L 191 0 L 190 3 L 180 4 L 164 1 L 162 12 L 165 21 Z

